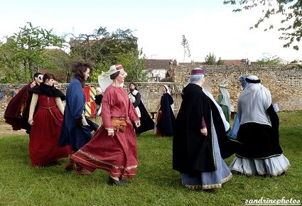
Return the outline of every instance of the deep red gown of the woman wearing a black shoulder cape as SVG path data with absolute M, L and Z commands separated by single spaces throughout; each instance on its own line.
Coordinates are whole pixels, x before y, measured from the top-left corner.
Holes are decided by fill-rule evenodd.
M 29 154 L 33 166 L 45 166 L 60 158 L 67 158 L 70 146 L 58 146 L 63 114 L 55 104 L 55 97 L 40 94 L 38 110 L 33 115 L 29 140 Z

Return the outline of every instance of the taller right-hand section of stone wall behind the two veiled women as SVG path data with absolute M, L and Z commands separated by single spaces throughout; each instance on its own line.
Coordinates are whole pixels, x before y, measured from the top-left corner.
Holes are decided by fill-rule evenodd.
M 205 89 L 210 91 L 215 99 L 219 94 L 219 85 L 226 85 L 230 93 L 231 104 L 237 109 L 237 100 L 242 91 L 238 78 L 241 75 L 257 75 L 270 92 L 273 103 L 277 103 L 281 111 L 302 109 L 302 69 L 294 65 L 201 65 L 180 64 L 175 69 L 175 81 L 188 82 L 190 70 L 194 67 L 205 69 Z

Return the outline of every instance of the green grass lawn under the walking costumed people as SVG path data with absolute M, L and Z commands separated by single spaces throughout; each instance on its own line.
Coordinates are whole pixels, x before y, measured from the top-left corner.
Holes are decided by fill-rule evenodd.
M 138 137 L 139 167 L 134 179 L 107 185 L 108 173 L 80 176 L 59 166 L 33 168 L 28 136 L 0 137 L 0 205 L 244 205 L 245 200 L 296 199 L 302 194 L 302 111 L 279 112 L 280 143 L 291 163 L 274 178 L 233 175 L 222 188 L 188 190 L 172 170 L 172 137 L 148 131 Z M 3 122 L 1 124 L 4 124 Z M 0 125 L 1 125 L 0 124 Z M 230 165 L 234 156 L 225 161 Z

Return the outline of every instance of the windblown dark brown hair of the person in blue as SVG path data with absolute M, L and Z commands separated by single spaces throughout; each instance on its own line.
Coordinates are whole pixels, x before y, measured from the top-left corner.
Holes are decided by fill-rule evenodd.
M 75 73 L 75 77 L 77 77 L 77 80 L 79 80 L 82 84 L 82 87 L 85 86 L 85 78 L 84 78 L 84 72 L 86 72 L 87 68 L 92 67 L 92 64 L 90 62 L 85 62 L 84 60 L 75 60 L 70 62 L 71 71 Z

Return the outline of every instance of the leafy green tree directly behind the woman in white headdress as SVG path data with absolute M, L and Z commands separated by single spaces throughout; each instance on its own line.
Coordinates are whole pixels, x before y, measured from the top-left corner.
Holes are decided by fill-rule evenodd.
M 106 27 L 99 27 L 92 34 L 80 34 L 70 40 L 71 58 L 83 58 L 95 63 L 90 80 L 97 81 L 102 71 L 110 65 L 121 63 L 128 76 L 127 81 L 140 82 L 146 80 L 145 58 L 139 58 L 142 50 L 138 50 L 137 40 L 129 29 L 117 29 L 112 33 Z

